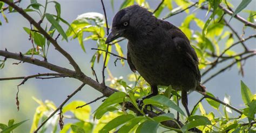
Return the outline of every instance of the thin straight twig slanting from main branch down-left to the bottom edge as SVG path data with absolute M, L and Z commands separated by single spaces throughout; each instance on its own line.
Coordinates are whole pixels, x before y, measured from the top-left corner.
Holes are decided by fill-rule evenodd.
M 55 109 L 55 111 L 52 112 L 51 115 L 50 115 L 46 120 L 44 120 L 44 121 L 41 123 L 41 125 L 39 125 L 39 127 L 38 127 L 34 132 L 35 132 L 35 133 L 38 132 L 39 129 L 41 129 L 41 128 L 43 127 L 43 125 L 44 125 L 48 120 L 50 120 L 51 117 L 52 117 L 53 115 L 55 115 L 55 113 L 58 112 L 58 110 L 60 110 L 60 109 L 66 104 L 66 102 L 69 101 L 69 99 L 71 99 L 77 92 L 79 92 L 79 91 L 84 87 L 84 85 L 85 85 L 85 83 L 83 83 L 82 85 L 80 85 L 80 86 L 77 88 L 77 90 L 74 91 L 72 94 L 68 95 L 68 98 L 66 98 L 65 101 L 63 101 L 62 104 L 60 104 L 60 106 L 59 106 L 57 109 Z

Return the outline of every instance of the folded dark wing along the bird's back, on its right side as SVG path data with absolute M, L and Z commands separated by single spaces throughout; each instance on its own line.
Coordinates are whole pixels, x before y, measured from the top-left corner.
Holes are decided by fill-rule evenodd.
M 199 60 L 196 51 L 194 51 L 190 45 L 190 41 L 178 27 L 173 26 L 167 21 L 165 21 L 165 23 L 167 23 L 165 26 L 168 26 L 167 29 L 169 29 L 169 33 L 172 36 L 177 51 L 183 57 L 185 64 L 195 73 L 197 80 L 200 82 L 201 74 L 198 68 Z

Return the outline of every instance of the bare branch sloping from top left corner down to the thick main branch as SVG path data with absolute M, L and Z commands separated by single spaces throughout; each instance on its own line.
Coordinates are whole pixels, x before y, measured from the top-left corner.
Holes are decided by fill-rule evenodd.
M 19 12 L 20 14 L 22 14 L 22 16 L 24 18 L 26 18 L 30 24 L 32 24 L 33 26 L 35 26 L 38 30 L 39 33 L 43 34 L 45 36 L 45 38 L 47 40 L 49 40 L 52 45 L 62 54 L 64 55 L 70 62 L 70 64 L 73 66 L 73 68 L 76 70 L 76 72 L 79 75 L 82 75 L 82 71 L 80 70 L 78 64 L 75 62 L 75 60 L 73 60 L 73 58 L 71 57 L 71 55 L 66 52 L 63 48 L 61 48 L 57 41 L 55 39 L 53 39 L 46 31 L 44 31 L 44 29 L 33 19 L 31 18 L 22 8 L 19 8 L 17 5 L 15 5 L 14 3 L 8 1 L 8 0 L 0 0 L 0 2 L 4 2 L 6 4 L 8 4 L 9 6 L 11 6 L 12 8 L 14 8 L 17 12 Z

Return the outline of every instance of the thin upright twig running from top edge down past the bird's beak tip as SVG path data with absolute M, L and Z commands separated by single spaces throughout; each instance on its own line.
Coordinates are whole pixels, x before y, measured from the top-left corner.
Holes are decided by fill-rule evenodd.
M 106 20 L 106 35 L 109 35 L 109 25 L 107 24 L 107 17 L 106 17 L 106 10 L 105 10 L 105 6 L 103 3 L 103 0 L 101 0 L 102 2 L 102 8 L 104 11 L 104 16 L 105 16 L 105 20 Z M 102 68 L 102 84 L 105 86 L 105 68 L 106 68 L 106 59 L 107 59 L 107 53 L 109 52 L 109 43 L 107 43 L 107 47 L 106 47 L 106 53 L 105 53 L 105 58 L 104 58 L 104 63 L 103 63 L 103 68 Z

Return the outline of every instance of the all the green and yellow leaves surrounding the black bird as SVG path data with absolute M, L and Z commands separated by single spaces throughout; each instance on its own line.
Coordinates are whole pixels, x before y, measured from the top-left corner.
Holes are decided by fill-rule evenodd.
M 251 1 L 241 1 L 239 6 L 234 10 L 230 20 L 235 17 L 239 12 L 243 11 L 244 8 Z M 112 0 L 113 3 L 113 0 Z M 177 8 L 174 8 L 174 3 L 178 5 Z M 46 12 L 46 9 L 49 6 L 55 5 L 55 14 L 50 14 Z M 143 0 L 125 0 L 119 9 L 123 9 L 132 4 L 144 5 L 145 8 L 153 11 L 150 7 L 150 4 L 147 1 Z M 165 18 L 171 17 L 179 12 L 189 13 L 192 10 L 187 8 L 191 4 L 194 4 L 191 1 L 164 1 L 159 5 L 159 9 L 154 13 L 156 17 L 163 16 L 163 11 L 166 8 L 169 13 L 167 13 Z M 237 43 L 234 43 L 233 36 L 236 34 L 234 32 L 225 30 L 225 27 L 230 27 L 225 20 L 224 14 L 225 11 L 221 10 L 219 6 L 225 4 L 226 6 L 232 6 L 226 0 L 200 0 L 196 3 L 197 8 L 204 7 L 209 16 L 206 21 L 199 19 L 196 13 L 188 14 L 183 23 L 180 25 L 181 31 L 183 31 L 188 39 L 191 40 L 193 48 L 196 50 L 196 53 L 199 57 L 200 64 L 199 68 L 201 70 L 206 69 L 203 73 L 207 73 L 207 68 L 214 68 L 217 63 L 224 62 L 226 60 L 234 60 L 238 66 L 238 70 L 242 73 L 242 64 L 241 58 L 246 54 L 255 54 L 255 51 L 246 50 L 244 53 L 236 53 L 234 50 L 231 50 L 231 47 L 237 45 L 238 43 L 242 44 L 242 40 L 239 36 Z M 208 5 L 208 6 L 206 6 Z M 0 2 L 0 8 L 2 16 L 5 19 L 5 22 L 8 23 L 8 19 L 4 14 L 4 2 Z M 191 6 L 192 7 L 192 6 Z M 112 8 L 113 4 L 112 4 Z M 202 9 L 204 10 L 204 9 Z M 105 40 L 106 35 L 104 28 L 107 27 L 104 20 L 104 15 L 97 12 L 87 12 L 80 14 L 71 24 L 68 23 L 65 19 L 61 17 L 61 7 L 60 4 L 56 1 L 46 1 L 44 5 L 38 3 L 36 0 L 31 0 L 31 4 L 27 6 L 26 9 L 23 9 L 25 12 L 36 12 L 38 13 L 41 20 L 39 24 L 47 23 L 50 24 L 50 28 L 46 25 L 44 30 L 51 36 L 57 34 L 55 41 L 57 41 L 59 36 L 63 37 L 63 40 L 68 41 L 69 38 L 77 39 L 80 47 L 85 52 L 85 42 L 87 40 L 93 40 L 96 42 L 96 48 L 100 49 L 95 52 L 91 57 L 91 67 L 93 68 L 95 62 L 100 61 L 100 57 L 105 58 Z M 11 6 L 9 6 L 9 12 L 17 12 Z M 255 21 L 255 11 L 246 11 L 249 14 L 248 21 Z M 198 31 L 192 31 L 191 25 L 195 23 L 198 26 Z M 61 25 L 67 25 L 68 29 L 64 31 Z M 0 21 L 0 25 L 2 22 Z M 248 25 L 244 25 L 248 27 Z M 33 55 L 41 56 L 47 60 L 49 46 L 51 42 L 49 39 L 46 39 L 46 36 L 39 32 L 39 29 L 36 27 L 23 27 L 24 31 L 29 35 L 31 40 L 32 47 L 28 49 L 23 55 Z M 225 49 L 222 51 L 220 47 L 220 42 L 225 43 Z M 112 46 L 115 47 L 115 52 L 118 56 L 124 57 L 122 48 L 119 46 L 118 40 L 114 41 L 109 46 L 109 52 L 112 52 Z M 110 60 L 110 53 L 106 57 L 106 66 Z M 0 69 L 4 67 L 5 60 L 0 60 Z M 124 60 L 120 60 L 120 63 L 124 65 Z M 232 64 L 233 65 L 233 64 Z M 232 67 L 231 65 L 231 67 Z M 228 67 L 230 68 L 230 67 Z M 226 70 L 227 68 L 224 68 Z M 210 70 L 210 69 L 209 69 Z M 222 70 L 222 71 L 224 71 Z M 222 72 L 220 71 L 220 72 Z M 157 132 L 157 131 L 180 131 L 188 132 L 192 128 L 198 128 L 203 132 L 255 132 L 255 113 L 256 113 L 256 95 L 252 94 L 250 88 L 246 86 L 244 82 L 241 81 L 241 95 L 242 101 L 246 105 L 245 108 L 239 109 L 237 114 L 231 115 L 234 110 L 227 107 L 231 105 L 230 96 L 226 95 L 224 102 L 226 103 L 223 106 L 223 110 L 220 109 L 222 106 L 220 102 L 213 99 L 206 98 L 208 105 L 210 105 L 214 110 L 211 112 L 206 112 L 201 101 L 194 106 L 191 116 L 186 116 L 183 109 L 178 105 L 178 100 L 176 97 L 180 98 L 180 92 L 172 90 L 171 86 L 158 86 L 159 95 L 154 96 L 149 99 L 145 99 L 144 105 L 142 108 L 138 107 L 137 99 L 142 99 L 144 96 L 150 93 L 149 84 L 145 82 L 143 77 L 133 73 L 129 75 L 129 82 L 134 82 L 134 84 L 128 85 L 129 82 L 123 80 L 122 78 L 114 78 L 109 73 L 110 87 L 116 88 L 119 92 L 113 93 L 107 97 L 104 102 L 94 111 L 91 112 L 90 105 L 87 105 L 82 108 L 77 108 L 78 106 L 86 104 L 84 101 L 72 101 L 68 105 L 65 105 L 58 109 L 58 107 L 53 104 L 53 102 L 46 100 L 45 102 L 38 100 L 35 101 L 39 104 L 37 107 L 33 122 L 31 125 L 30 132 L 35 131 L 41 122 L 45 121 L 54 110 L 60 110 L 59 115 L 54 115 L 49 121 L 47 121 L 40 132 L 47 132 L 51 130 L 52 132 L 57 132 L 58 124 L 61 127 L 63 122 L 60 119 L 64 116 L 64 120 L 72 119 L 73 121 L 64 124 L 63 129 L 60 132 L 113 132 L 118 130 L 118 132 Z M 218 73 L 217 73 L 218 74 Z M 210 78 L 211 79 L 211 78 Z M 210 79 L 207 79 L 206 82 Z M 207 95 L 210 95 L 212 98 L 217 99 L 212 93 L 207 92 Z M 202 100 L 205 99 L 204 97 Z M 138 116 L 132 110 L 125 108 L 125 103 L 130 103 L 134 106 L 138 112 L 141 114 Z M 156 110 L 156 113 L 160 114 L 155 117 L 150 117 L 144 113 L 144 109 L 150 110 L 151 106 L 154 106 L 165 114 L 161 114 L 159 110 Z M 196 113 L 199 110 L 199 113 Z M 177 115 L 174 115 L 173 112 L 178 112 L 180 114 L 180 120 L 177 120 Z M 220 116 L 218 116 L 219 114 Z M 93 116 L 91 116 L 93 114 Z M 235 116 L 235 117 L 234 117 Z M 161 122 L 164 121 L 173 121 L 174 123 L 184 123 L 179 125 L 179 128 L 167 127 Z M 23 122 L 14 124 L 14 120 L 9 120 L 8 125 L 0 123 L 1 132 L 10 132 L 21 125 Z

